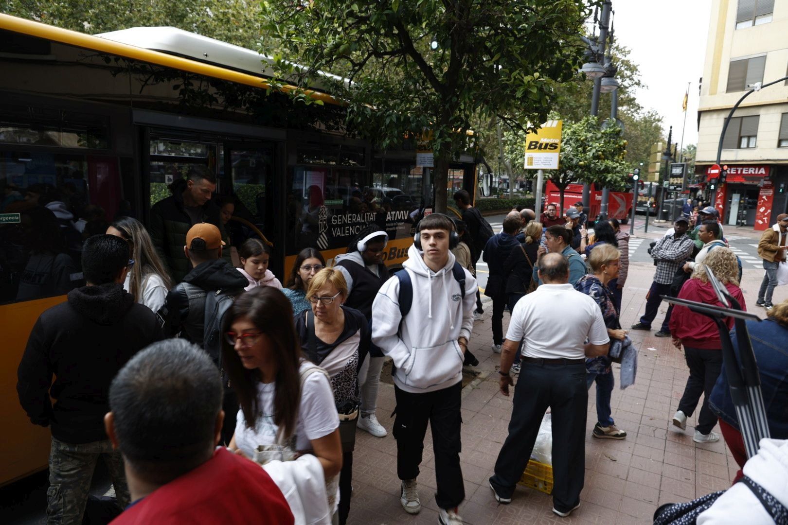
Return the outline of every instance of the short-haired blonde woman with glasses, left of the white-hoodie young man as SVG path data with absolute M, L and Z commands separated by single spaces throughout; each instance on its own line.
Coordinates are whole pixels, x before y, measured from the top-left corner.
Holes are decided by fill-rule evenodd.
M 344 306 L 348 285 L 342 272 L 323 268 L 309 283 L 312 308 L 296 314 L 301 351 L 329 373 L 340 414 L 342 471 L 340 473 L 340 525 L 348 520 L 355 426 L 359 417 L 359 366 L 370 349 L 370 327 L 359 310 Z

